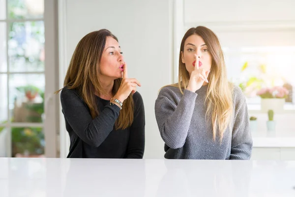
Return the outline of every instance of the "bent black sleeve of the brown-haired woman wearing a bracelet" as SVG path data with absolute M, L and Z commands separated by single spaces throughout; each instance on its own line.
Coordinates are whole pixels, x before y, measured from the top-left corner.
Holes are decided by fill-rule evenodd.
M 64 118 L 73 131 L 87 144 L 98 147 L 113 130 L 119 115 L 117 105 L 108 104 L 92 119 L 89 109 L 74 90 L 63 88 L 60 102 Z

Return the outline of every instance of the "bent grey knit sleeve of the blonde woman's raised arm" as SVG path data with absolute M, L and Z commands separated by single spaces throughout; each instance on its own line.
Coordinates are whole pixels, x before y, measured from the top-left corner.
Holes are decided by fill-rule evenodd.
M 172 90 L 163 88 L 155 101 L 155 116 L 164 142 L 172 149 L 181 148 L 187 137 L 197 94 L 184 90 L 177 104 Z

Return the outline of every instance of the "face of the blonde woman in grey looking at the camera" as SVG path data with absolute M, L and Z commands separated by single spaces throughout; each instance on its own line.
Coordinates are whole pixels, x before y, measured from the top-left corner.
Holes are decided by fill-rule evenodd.
M 212 66 L 211 54 L 203 38 L 197 34 L 190 35 L 186 38 L 183 52 L 181 52 L 181 61 L 185 64 L 189 75 L 195 70 L 195 54 L 200 57 L 199 68 L 203 68 L 205 71 L 210 70 Z

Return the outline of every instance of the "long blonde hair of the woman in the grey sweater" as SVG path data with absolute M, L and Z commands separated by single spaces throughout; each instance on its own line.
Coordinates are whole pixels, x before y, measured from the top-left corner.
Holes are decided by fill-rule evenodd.
M 189 82 L 189 73 L 185 64 L 181 61 L 181 53 L 184 51 L 185 40 L 193 34 L 200 35 L 207 44 L 209 53 L 212 57 L 212 66 L 208 76 L 209 84 L 205 103 L 207 105 L 206 116 L 211 116 L 213 126 L 213 139 L 216 138 L 216 131 L 219 131 L 220 140 L 223 138 L 224 131 L 231 124 L 233 116 L 233 84 L 227 79 L 227 71 L 223 52 L 219 40 L 215 33 L 206 27 L 198 26 L 190 28 L 183 36 L 179 51 L 179 74 L 178 83 L 170 86 L 178 87 L 181 94 L 186 89 Z

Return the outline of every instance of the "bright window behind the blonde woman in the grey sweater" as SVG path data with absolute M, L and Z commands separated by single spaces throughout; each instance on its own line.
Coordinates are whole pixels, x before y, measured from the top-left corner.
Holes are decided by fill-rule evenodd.
M 287 108 L 295 109 L 295 24 L 290 22 L 208 23 L 218 36 L 228 78 L 240 86 L 250 109 L 259 110 L 263 87 L 284 86 Z M 184 32 L 189 27 L 184 28 Z M 257 108 L 258 106 L 258 108 Z M 253 107 L 253 108 L 252 108 Z

